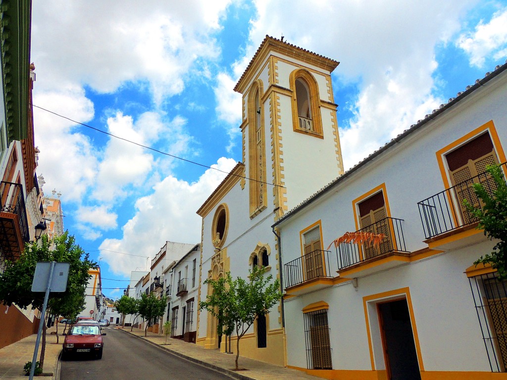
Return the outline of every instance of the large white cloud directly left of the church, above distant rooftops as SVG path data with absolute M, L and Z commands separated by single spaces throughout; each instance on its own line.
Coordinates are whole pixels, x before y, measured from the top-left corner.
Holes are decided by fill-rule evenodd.
M 229 172 L 235 165 L 234 160 L 221 158 L 212 167 Z M 114 273 L 128 276 L 137 267 L 149 268 L 150 262 L 116 252 L 154 257 L 164 241 L 199 243 L 201 217 L 196 211 L 225 175 L 208 169 L 195 183 L 171 175 L 164 178 L 154 186 L 152 194 L 137 200 L 135 215 L 122 227 L 122 239 L 102 242 L 100 256 Z

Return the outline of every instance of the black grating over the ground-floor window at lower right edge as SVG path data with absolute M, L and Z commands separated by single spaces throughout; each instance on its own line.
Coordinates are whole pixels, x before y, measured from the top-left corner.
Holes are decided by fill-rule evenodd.
M 507 368 L 507 281 L 495 273 L 468 279 L 492 372 Z

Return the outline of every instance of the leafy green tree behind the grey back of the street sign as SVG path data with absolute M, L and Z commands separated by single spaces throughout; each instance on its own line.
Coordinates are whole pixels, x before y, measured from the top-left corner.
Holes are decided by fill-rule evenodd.
M 0 274 L 0 301 L 4 305 L 16 305 L 26 309 L 42 309 L 44 293 L 31 291 L 35 267 L 38 261 L 57 261 L 70 263 L 67 290 L 62 293 L 51 293 L 48 301 L 47 315 L 73 317 L 84 309 L 86 286 L 90 276 L 88 270 L 97 268 L 97 263 L 89 259 L 88 253 L 76 244 L 74 236 L 68 234 L 49 240 L 43 236 L 39 242 L 26 244 L 24 251 L 16 261 L 6 262 L 4 273 Z M 43 330 L 41 346 L 41 363 L 44 367 L 46 351 L 46 327 Z

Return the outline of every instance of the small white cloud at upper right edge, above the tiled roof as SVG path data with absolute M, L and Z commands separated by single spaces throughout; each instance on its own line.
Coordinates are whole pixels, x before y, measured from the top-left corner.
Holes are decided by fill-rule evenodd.
M 462 33 L 456 45 L 470 57 L 470 64 L 483 67 L 486 57 L 499 59 L 507 55 L 507 8 L 496 12 L 488 23 L 483 20 L 475 31 Z

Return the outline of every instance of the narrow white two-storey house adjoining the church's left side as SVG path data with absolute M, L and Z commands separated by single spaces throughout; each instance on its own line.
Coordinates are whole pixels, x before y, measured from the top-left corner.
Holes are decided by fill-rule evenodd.
M 171 321 L 171 337 L 195 343 L 197 330 L 197 296 L 201 246 L 196 244 L 178 260 L 169 272 L 167 315 Z

